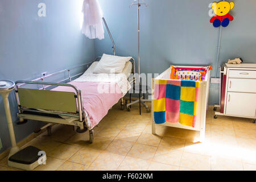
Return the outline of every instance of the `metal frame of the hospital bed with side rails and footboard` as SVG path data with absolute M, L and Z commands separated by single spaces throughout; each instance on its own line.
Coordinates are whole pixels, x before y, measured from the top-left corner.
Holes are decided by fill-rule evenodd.
M 97 57 L 94 61 L 97 61 L 101 57 Z M 28 119 L 35 120 L 35 121 L 42 121 L 48 123 L 47 125 L 43 126 L 41 129 L 47 128 L 48 134 L 51 134 L 51 127 L 53 123 L 58 123 L 58 124 L 63 124 L 63 125 L 72 125 L 74 126 L 74 129 L 76 127 L 77 133 L 84 133 L 89 129 L 89 141 L 90 143 L 93 143 L 93 137 L 94 137 L 94 131 L 93 128 L 88 126 L 86 124 L 87 121 L 87 113 L 84 110 L 82 106 L 82 96 L 81 96 L 81 90 L 79 90 L 76 86 L 71 85 L 71 84 L 65 84 L 61 83 L 64 81 L 72 81 L 72 78 L 77 77 L 82 75 L 84 72 L 78 73 L 74 76 L 71 76 L 71 70 L 76 69 L 76 68 L 81 68 L 87 65 L 87 68 L 89 68 L 89 65 L 91 65 L 94 61 L 86 64 L 82 64 L 73 68 L 69 69 L 64 69 L 59 72 L 52 73 L 50 75 L 46 75 L 45 73 L 42 73 L 42 77 L 36 78 L 35 80 L 32 81 L 16 81 L 15 82 L 15 98 L 16 98 L 16 104 L 18 106 L 18 118 L 19 122 L 17 123 L 18 125 L 24 124 L 27 122 Z M 135 82 L 135 60 L 132 58 L 131 63 L 133 64 L 132 72 L 133 73 L 133 78 L 130 81 L 130 84 Z M 66 73 L 68 72 L 68 78 L 65 78 L 64 80 L 60 80 L 59 82 L 44 82 L 44 80 L 48 77 L 56 76 L 59 75 L 60 73 Z M 129 79 L 129 77 L 127 78 Z M 40 85 L 42 88 L 39 89 L 23 89 L 20 88 L 21 86 L 24 85 Z M 72 89 L 75 90 L 75 93 L 71 92 L 57 92 L 57 91 L 51 91 L 51 90 L 46 90 L 46 88 L 49 88 L 50 86 L 68 86 L 71 87 Z M 64 96 L 59 98 L 56 98 L 56 94 L 63 94 Z M 21 97 L 20 97 L 21 96 Z M 33 97 L 35 96 L 35 97 Z M 58 110 L 51 111 L 50 113 L 47 110 L 52 110 L 49 109 L 50 107 L 47 105 L 44 105 L 45 108 L 44 110 L 37 110 L 39 108 L 36 108 L 40 101 L 35 101 L 35 98 L 38 98 L 38 96 L 41 96 L 43 98 L 49 98 L 51 97 L 53 99 L 52 102 L 54 101 L 60 101 L 65 102 L 65 100 L 72 100 L 71 102 L 64 103 L 65 106 L 68 105 L 68 109 L 64 108 L 64 106 L 57 106 Z M 43 99 L 42 98 L 42 99 Z M 74 100 L 75 98 L 75 100 Z M 41 101 L 42 101 L 41 99 Z M 22 101 L 20 101 L 22 100 Z M 75 101 L 75 104 L 74 104 Z M 50 103 L 49 103 L 50 105 Z M 69 106 L 70 105 L 70 106 Z M 76 109 L 75 109 L 76 107 Z M 123 97 L 121 98 L 121 109 L 125 109 L 125 104 L 123 102 Z M 75 117 L 77 118 L 75 121 L 68 122 L 66 119 L 61 118 L 60 115 L 63 116 L 68 116 L 68 117 Z M 39 130 L 40 131 L 40 130 Z

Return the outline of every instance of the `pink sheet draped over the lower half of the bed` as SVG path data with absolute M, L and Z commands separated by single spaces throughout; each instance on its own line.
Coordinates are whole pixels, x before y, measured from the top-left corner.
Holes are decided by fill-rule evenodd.
M 84 110 L 89 115 L 92 128 L 101 121 L 102 118 L 108 114 L 108 110 L 122 98 L 122 92 L 117 83 L 113 85 L 111 82 L 76 82 L 72 81 L 68 84 L 76 86 L 82 92 L 82 104 Z M 102 88 L 109 88 L 114 86 L 115 93 L 100 93 L 98 86 Z M 118 90 L 119 89 L 119 90 Z M 67 86 L 57 86 L 52 89 L 60 92 L 75 92 L 73 88 Z

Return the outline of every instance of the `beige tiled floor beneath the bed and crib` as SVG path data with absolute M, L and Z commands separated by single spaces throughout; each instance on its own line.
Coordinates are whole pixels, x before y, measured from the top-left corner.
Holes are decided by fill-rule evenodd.
M 56 125 L 31 140 L 47 153 L 47 165 L 35 170 L 256 170 L 256 124 L 252 119 L 218 117 L 207 111 L 205 142 L 199 132 L 156 126 L 151 134 L 151 114 L 137 106 L 131 112 L 115 105 L 89 134 Z M 24 147 L 25 147 L 24 146 Z M 0 160 L 0 170 L 15 170 Z

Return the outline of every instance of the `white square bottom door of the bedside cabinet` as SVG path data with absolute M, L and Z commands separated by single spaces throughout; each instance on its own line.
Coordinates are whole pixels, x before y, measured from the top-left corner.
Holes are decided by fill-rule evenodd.
M 255 117 L 256 94 L 228 92 L 226 114 L 241 117 Z

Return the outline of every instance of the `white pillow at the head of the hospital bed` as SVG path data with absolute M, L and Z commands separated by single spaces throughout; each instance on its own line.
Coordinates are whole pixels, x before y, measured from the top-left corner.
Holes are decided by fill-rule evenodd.
M 93 73 L 122 73 L 125 64 L 131 57 L 102 55 L 101 60 L 93 69 Z

